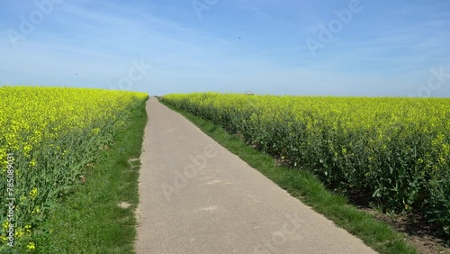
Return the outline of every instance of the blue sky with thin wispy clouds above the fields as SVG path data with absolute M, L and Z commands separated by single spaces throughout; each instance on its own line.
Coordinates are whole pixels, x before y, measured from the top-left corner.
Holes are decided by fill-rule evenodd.
M 448 0 L 1 0 L 0 86 L 450 96 Z

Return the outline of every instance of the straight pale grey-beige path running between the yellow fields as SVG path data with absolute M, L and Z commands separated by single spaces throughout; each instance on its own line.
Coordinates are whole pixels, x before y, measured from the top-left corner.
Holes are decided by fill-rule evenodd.
M 375 253 L 156 98 L 147 112 L 138 253 Z

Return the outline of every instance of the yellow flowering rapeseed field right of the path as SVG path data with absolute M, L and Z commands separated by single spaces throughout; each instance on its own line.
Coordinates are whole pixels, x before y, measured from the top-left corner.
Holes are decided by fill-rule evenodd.
M 424 213 L 450 234 L 450 99 L 166 95 L 331 189 Z

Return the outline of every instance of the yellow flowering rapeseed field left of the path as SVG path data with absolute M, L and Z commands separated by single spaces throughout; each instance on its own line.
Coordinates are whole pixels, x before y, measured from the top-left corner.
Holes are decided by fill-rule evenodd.
M 49 207 L 72 190 L 85 165 L 147 98 L 100 89 L 0 87 L 0 252 L 11 224 L 14 248 L 35 249 L 33 229 Z M 11 198 L 14 221 L 4 205 Z

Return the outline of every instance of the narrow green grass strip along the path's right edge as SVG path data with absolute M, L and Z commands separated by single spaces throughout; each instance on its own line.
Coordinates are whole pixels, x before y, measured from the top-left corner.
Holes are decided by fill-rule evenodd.
M 161 101 L 163 104 L 165 102 Z M 275 159 L 255 150 L 235 135 L 230 135 L 220 126 L 206 121 L 192 113 L 169 108 L 184 115 L 220 145 L 238 155 L 250 166 L 256 168 L 277 185 L 287 190 L 294 197 L 310 205 L 318 213 L 346 229 L 365 244 L 380 253 L 418 253 L 405 240 L 406 235 L 394 231 L 384 222 L 376 220 L 372 215 L 358 210 L 348 203 L 346 197 L 329 192 L 317 177 L 306 171 L 275 166 Z

